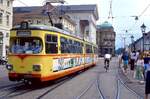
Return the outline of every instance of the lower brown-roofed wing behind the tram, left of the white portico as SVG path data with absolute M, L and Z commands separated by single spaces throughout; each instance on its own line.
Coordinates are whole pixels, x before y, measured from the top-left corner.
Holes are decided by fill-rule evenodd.
M 53 9 L 53 7 L 51 8 Z M 45 10 L 44 6 L 34 7 L 14 7 L 13 9 L 13 25 L 18 25 L 22 21 L 28 21 L 30 24 L 45 24 L 45 25 L 57 25 L 70 33 L 75 32 L 75 22 L 67 15 L 52 15 L 50 18 Z M 55 11 L 53 12 L 55 13 Z M 60 26 L 62 24 L 62 26 Z

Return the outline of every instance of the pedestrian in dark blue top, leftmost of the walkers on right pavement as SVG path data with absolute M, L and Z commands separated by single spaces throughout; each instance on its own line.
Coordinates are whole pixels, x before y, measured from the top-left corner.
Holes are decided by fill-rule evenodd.
M 129 62 L 129 54 L 127 51 L 123 52 L 122 55 L 122 60 L 123 60 L 123 69 L 124 69 L 124 73 L 127 73 L 127 68 L 128 68 L 128 62 Z

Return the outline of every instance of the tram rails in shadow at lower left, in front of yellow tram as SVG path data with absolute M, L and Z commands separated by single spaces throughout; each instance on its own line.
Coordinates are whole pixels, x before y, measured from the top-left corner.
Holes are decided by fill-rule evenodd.
M 23 95 L 25 93 L 30 93 L 34 90 L 38 90 L 40 88 L 46 89 L 47 87 L 51 87 L 50 89 L 45 91 L 43 94 L 39 95 L 36 99 L 42 99 L 45 95 L 56 89 L 57 87 L 63 85 L 68 80 L 72 79 L 73 77 L 64 77 L 62 79 L 56 80 L 55 83 L 49 83 L 47 85 L 41 85 L 41 86 L 31 86 L 31 85 L 25 85 L 24 83 L 19 84 L 12 84 L 8 86 L 2 86 L 0 89 L 0 99 L 8 99 L 13 98 L 18 95 Z M 51 85 L 50 85 L 51 84 Z M 49 86 L 50 85 L 50 86 Z

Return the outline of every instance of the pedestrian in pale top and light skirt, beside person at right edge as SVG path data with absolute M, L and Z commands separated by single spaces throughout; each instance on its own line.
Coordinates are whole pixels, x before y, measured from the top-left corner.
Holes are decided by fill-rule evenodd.
M 142 55 L 138 55 L 137 62 L 136 62 L 136 70 L 135 70 L 135 78 L 139 81 L 139 83 L 144 83 L 144 60 Z

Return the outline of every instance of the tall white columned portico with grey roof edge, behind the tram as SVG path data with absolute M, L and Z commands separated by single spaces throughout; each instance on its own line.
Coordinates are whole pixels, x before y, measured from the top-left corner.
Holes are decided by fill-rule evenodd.
M 76 22 L 76 36 L 96 44 L 97 5 L 65 5 L 60 6 L 60 11 Z

